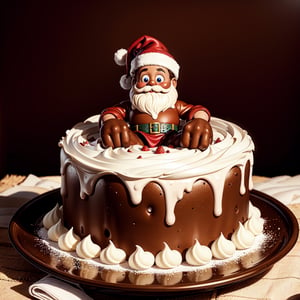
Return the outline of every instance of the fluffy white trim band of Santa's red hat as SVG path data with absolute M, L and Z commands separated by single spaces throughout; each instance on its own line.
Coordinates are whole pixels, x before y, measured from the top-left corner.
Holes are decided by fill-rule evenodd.
M 172 71 L 176 79 L 178 79 L 179 76 L 178 63 L 175 61 L 174 58 L 158 52 L 143 53 L 135 57 L 131 61 L 130 75 L 132 76 L 138 68 L 142 66 L 148 66 L 148 65 L 158 65 L 158 66 L 165 67 L 170 71 Z

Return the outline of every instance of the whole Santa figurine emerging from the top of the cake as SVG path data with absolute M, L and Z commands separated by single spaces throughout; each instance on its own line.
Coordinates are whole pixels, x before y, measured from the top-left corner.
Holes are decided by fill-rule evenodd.
M 115 62 L 126 66 L 120 85 L 130 90 L 130 100 L 102 111 L 103 147 L 209 146 L 210 113 L 202 105 L 177 100 L 179 65 L 160 41 L 142 36 L 128 50 L 119 49 Z

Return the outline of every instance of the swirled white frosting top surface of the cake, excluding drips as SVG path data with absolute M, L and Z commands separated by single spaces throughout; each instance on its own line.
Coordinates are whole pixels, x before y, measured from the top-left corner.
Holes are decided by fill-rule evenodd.
M 205 150 L 146 147 L 103 148 L 99 143 L 99 115 L 67 131 L 60 146 L 74 159 L 95 172 L 114 172 L 131 179 L 184 179 L 253 160 L 254 144 L 248 133 L 234 123 L 212 117 L 213 143 Z

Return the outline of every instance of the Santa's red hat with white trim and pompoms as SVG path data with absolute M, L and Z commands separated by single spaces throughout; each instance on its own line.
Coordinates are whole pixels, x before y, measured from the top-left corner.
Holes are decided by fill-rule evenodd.
M 169 69 L 178 79 L 179 65 L 168 49 L 157 39 L 144 35 L 126 49 L 119 49 L 114 56 L 116 64 L 126 66 L 126 74 L 120 79 L 123 89 L 129 90 L 135 71 L 147 65 L 159 65 Z

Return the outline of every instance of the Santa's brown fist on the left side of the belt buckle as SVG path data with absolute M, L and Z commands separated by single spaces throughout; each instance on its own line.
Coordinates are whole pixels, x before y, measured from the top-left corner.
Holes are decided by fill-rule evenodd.
M 119 119 L 109 119 L 100 128 L 101 146 L 104 148 L 129 147 L 142 145 L 142 141 L 133 133 L 127 123 Z

